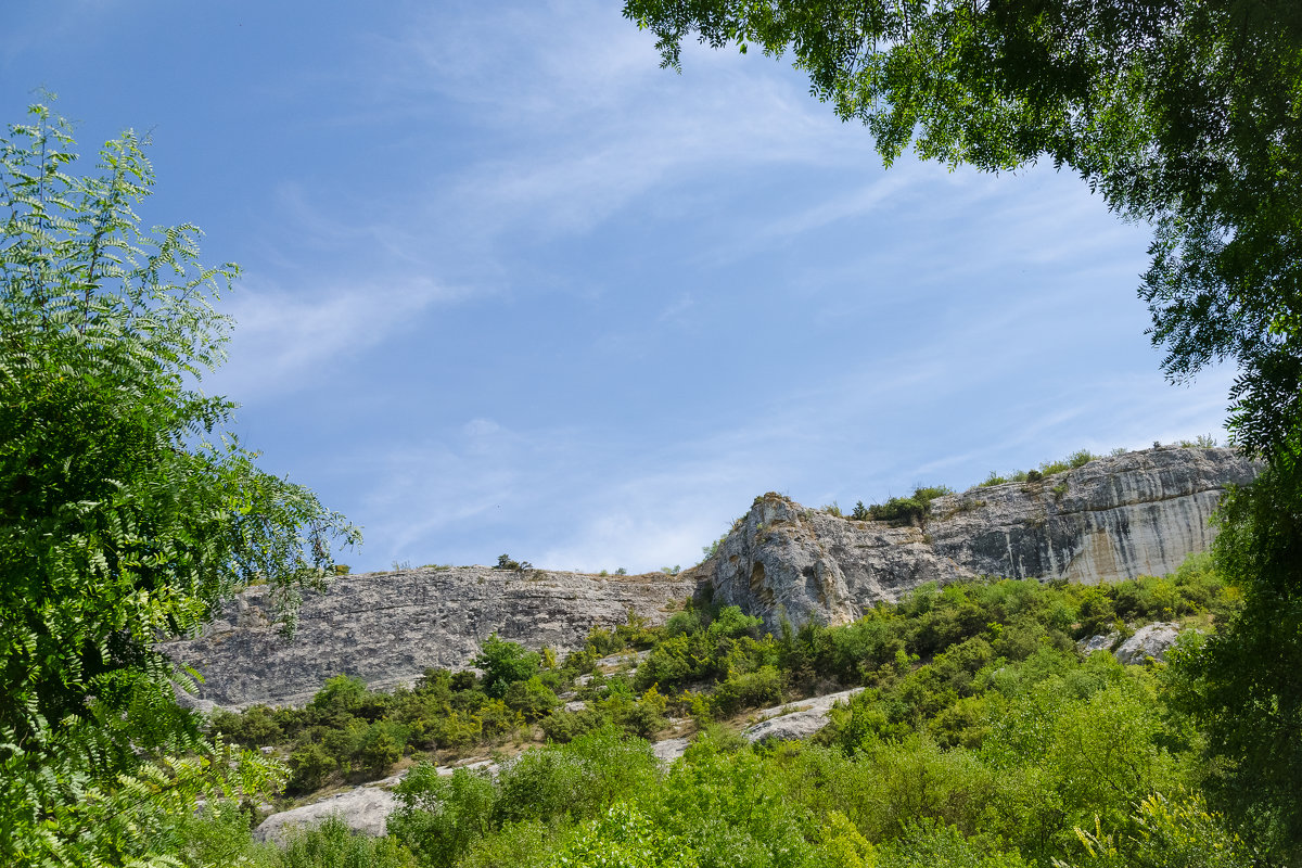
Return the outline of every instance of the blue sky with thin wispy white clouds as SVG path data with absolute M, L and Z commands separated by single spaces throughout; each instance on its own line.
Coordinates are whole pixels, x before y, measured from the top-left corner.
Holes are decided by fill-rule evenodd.
M 148 134 L 143 221 L 241 265 L 203 389 L 354 573 L 685 567 L 769 491 L 1224 441 L 1233 371 L 1164 380 L 1150 230 L 1077 177 L 885 169 L 788 61 L 682 66 L 617 1 L 0 7 L 5 125 Z

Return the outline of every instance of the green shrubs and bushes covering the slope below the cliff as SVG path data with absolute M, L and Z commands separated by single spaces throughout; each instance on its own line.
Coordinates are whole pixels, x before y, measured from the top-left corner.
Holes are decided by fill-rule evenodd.
M 336 678 L 303 709 L 214 725 L 276 746 L 299 791 L 414 763 L 389 830 L 421 865 L 1247 865 L 1207 808 L 1224 782 L 1185 711 L 1199 634 L 1172 666 L 1078 649 L 1151 619 L 1212 631 L 1238 606 L 1206 556 L 1108 587 L 928 586 L 777 636 L 697 601 L 663 627 L 594 630 L 564 662 L 493 639 L 480 674 L 393 694 Z M 633 649 L 635 668 L 598 665 Z M 737 734 L 758 708 L 852 686 L 816 743 Z M 561 708 L 572 694 L 583 711 Z M 663 766 L 648 740 L 684 730 L 694 744 Z M 435 772 L 490 746 L 506 748 L 496 776 Z

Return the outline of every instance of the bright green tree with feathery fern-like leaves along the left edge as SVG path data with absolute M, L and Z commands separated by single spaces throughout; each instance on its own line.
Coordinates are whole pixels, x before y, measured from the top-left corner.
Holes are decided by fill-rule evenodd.
M 0 139 L 7 864 L 156 852 L 141 819 L 184 812 L 238 764 L 176 707 L 154 640 L 195 630 L 253 580 L 276 590 L 289 627 L 331 541 L 359 540 L 310 491 L 258 470 L 228 432 L 236 405 L 198 389 L 223 360 L 230 321 L 212 301 L 237 268 L 199 264 L 191 225 L 142 226 L 154 178 L 134 134 L 86 176 L 73 146 L 44 105 Z M 167 759 L 184 751 L 199 759 Z M 116 826 L 85 821 L 116 798 Z

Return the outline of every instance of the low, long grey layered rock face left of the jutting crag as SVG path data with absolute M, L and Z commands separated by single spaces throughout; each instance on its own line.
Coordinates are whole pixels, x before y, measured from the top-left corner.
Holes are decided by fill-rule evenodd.
M 595 576 L 486 566 L 419 569 L 335 579 L 307 595 L 285 642 L 271 623 L 267 588 L 241 593 L 203 636 L 160 645 L 203 675 L 190 701 L 299 704 L 333 675 L 372 688 L 410 683 L 428 666 L 464 666 L 496 632 L 531 648 L 582 645 L 592 626 L 652 622 L 697 587 L 693 574 Z

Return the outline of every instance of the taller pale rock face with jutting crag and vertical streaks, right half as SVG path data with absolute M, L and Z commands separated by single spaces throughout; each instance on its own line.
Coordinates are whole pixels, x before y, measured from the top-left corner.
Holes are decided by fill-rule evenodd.
M 784 614 L 797 626 L 853 621 L 926 582 L 1161 575 L 1211 544 L 1221 492 L 1256 471 L 1232 449 L 1148 449 L 940 497 L 918 527 L 848 521 L 764 495 L 699 569 L 716 601 L 771 629 Z

